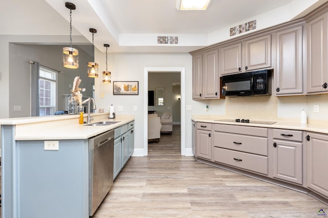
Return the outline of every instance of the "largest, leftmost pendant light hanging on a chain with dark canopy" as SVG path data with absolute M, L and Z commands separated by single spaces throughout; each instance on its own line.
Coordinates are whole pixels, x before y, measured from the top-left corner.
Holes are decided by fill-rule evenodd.
M 76 7 L 73 3 L 66 2 L 65 7 L 70 9 L 70 46 L 63 47 L 63 66 L 71 69 L 78 68 L 78 50 L 72 47 L 72 10 Z

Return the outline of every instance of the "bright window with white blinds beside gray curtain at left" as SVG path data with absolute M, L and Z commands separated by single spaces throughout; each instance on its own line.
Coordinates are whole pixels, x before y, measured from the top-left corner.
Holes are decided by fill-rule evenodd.
M 39 116 L 54 115 L 56 111 L 57 71 L 39 67 Z

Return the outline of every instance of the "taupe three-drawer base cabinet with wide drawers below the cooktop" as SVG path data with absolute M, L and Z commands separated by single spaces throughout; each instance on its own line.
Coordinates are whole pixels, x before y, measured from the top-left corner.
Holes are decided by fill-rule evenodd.
M 213 160 L 268 175 L 268 129 L 214 124 Z

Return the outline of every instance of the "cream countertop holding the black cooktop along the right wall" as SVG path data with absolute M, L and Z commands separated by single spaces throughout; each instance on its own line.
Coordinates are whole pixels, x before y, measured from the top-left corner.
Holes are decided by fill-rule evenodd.
M 328 125 L 323 124 L 299 124 L 297 122 L 290 121 L 281 121 L 281 120 L 270 120 L 276 121 L 275 124 L 247 124 L 247 123 L 235 123 L 235 122 L 222 122 L 217 121 L 217 119 L 227 118 L 224 116 L 198 116 L 193 115 L 192 120 L 195 122 L 204 122 L 204 123 L 214 123 L 214 124 L 229 124 L 229 125 L 239 125 L 239 126 L 251 126 L 251 127 L 268 127 L 268 128 L 276 128 L 276 129 L 292 129 L 292 130 L 302 130 L 302 131 L 311 131 L 318 133 L 328 134 Z M 269 120 L 265 120 L 269 121 Z

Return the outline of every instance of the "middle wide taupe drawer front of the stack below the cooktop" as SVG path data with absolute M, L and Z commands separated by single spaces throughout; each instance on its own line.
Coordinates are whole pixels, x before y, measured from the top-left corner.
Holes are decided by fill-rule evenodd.
M 268 156 L 268 138 L 214 132 L 214 146 Z

